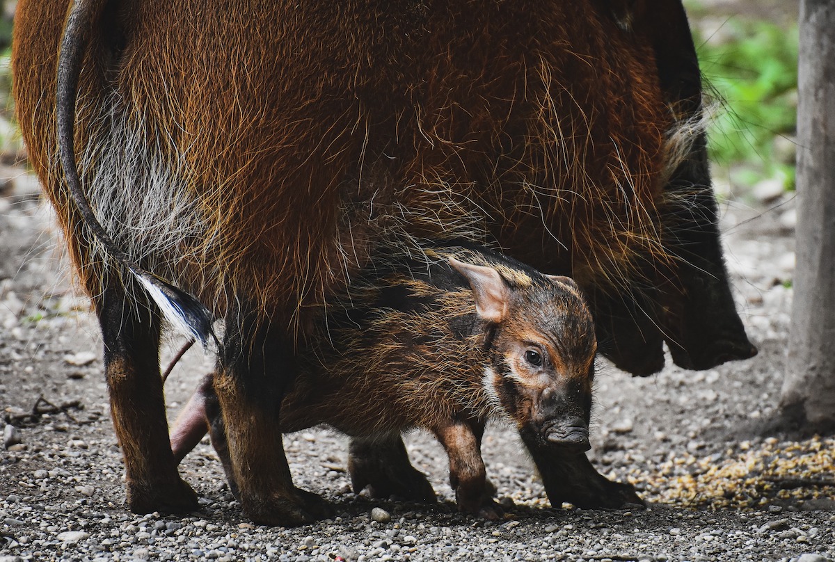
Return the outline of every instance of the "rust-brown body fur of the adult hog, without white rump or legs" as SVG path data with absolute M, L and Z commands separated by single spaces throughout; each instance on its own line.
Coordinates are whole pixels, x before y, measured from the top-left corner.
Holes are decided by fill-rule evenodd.
M 584 282 L 613 266 L 626 271 L 647 246 L 660 251 L 655 201 L 671 119 L 644 63 L 652 53 L 583 4 L 557 3 L 548 18 L 523 15 L 541 12 L 539 4 L 416 8 L 402 21 L 389 21 L 396 9 L 373 13 L 367 3 L 296 8 L 292 18 L 281 3 L 240 18 L 176 3 L 132 8 L 118 74 L 87 68 L 82 99 L 98 99 L 105 78 L 115 78 L 122 103 L 162 136 L 159 149 L 185 154 L 189 189 L 210 211 L 206 230 L 223 240 L 222 255 L 204 259 L 231 283 L 210 285 L 210 293 L 256 296 L 280 322 L 320 301 L 345 274 L 334 266 L 342 263 L 340 184 L 361 180 L 369 165 L 385 167 L 387 189 L 453 182 L 489 210 L 488 227 L 510 253 L 533 263 L 543 261 L 542 217 L 525 209 L 542 202 L 516 185 L 553 193 L 561 200 L 546 205 L 545 223 L 569 247 L 547 260 L 574 264 Z M 66 223 L 66 195 L 48 173 L 52 121 L 34 119 L 36 108 L 49 109 L 44 93 L 54 89 L 63 9 L 28 0 L 20 12 L 16 68 L 31 74 L 20 71 L 16 83 L 19 114 Z M 29 14 L 38 25 L 27 25 Z M 407 43 L 397 29 L 423 39 Z M 304 54 L 294 48 L 301 44 Z M 94 110 L 83 110 L 79 123 Z M 520 135 L 527 142 L 516 142 Z M 383 152 L 395 163 L 381 163 Z M 410 225 L 418 233 L 444 224 L 443 209 L 418 189 L 397 195 L 418 215 L 442 216 Z M 612 228 L 615 218 L 622 228 Z M 205 240 L 184 242 L 186 256 L 216 251 L 189 247 Z M 89 267 L 79 251 L 76 263 Z M 84 278 L 96 286 L 95 276 Z

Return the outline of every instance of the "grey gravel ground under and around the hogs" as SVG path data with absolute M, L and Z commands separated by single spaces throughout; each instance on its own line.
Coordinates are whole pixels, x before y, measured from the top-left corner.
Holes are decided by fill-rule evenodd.
M 407 445 L 437 505 L 352 494 L 346 439 L 326 428 L 286 438 L 296 484 L 338 517 L 297 529 L 249 523 L 208 443 L 183 464 L 200 494 L 189 517 L 124 509 L 98 329 L 73 293 L 52 216 L 27 175 L 0 191 L 0 562 L 78 559 L 835 559 L 835 440 L 757 436 L 782 382 L 792 300 L 792 201 L 723 205 L 738 307 L 760 354 L 706 372 L 632 378 L 600 363 L 591 458 L 635 484 L 650 509 L 552 509 L 509 428 L 488 428 L 484 457 L 506 519 L 458 514 L 443 449 Z M 784 203 L 783 205 L 780 205 Z M 767 205 L 777 205 L 766 210 Z M 169 342 L 166 357 L 180 342 Z M 210 359 L 192 350 L 167 383 L 171 418 Z M 335 404 L 335 408 L 339 405 Z M 0 422 L 3 426 L 3 422 Z M 19 441 L 19 443 L 18 443 Z

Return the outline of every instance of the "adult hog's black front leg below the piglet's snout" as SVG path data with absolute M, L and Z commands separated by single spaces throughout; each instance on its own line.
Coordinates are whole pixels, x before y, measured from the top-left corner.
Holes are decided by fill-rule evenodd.
M 564 450 L 535 435 L 519 432 L 536 463 L 551 505 L 563 502 L 582 509 L 620 509 L 644 505 L 631 484 L 612 482 L 597 472 L 585 453 Z

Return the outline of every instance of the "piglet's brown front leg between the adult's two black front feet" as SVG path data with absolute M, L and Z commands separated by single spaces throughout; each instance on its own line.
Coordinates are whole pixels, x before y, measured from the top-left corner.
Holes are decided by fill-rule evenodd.
M 454 422 L 434 429 L 449 457 L 449 484 L 455 490 L 458 510 L 484 519 L 499 519 L 502 509 L 493 501 L 481 458 L 482 423 Z

